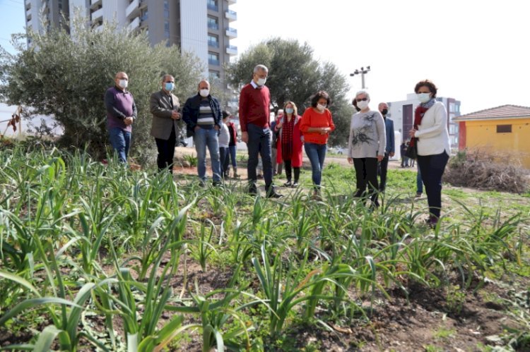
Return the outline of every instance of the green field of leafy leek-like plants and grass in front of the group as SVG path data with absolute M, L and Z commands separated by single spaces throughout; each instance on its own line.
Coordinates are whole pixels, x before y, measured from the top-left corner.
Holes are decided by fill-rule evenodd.
M 413 171 L 390 172 L 372 212 L 352 197 L 353 167 L 334 163 L 321 202 L 307 197 L 307 170 L 270 201 L 244 182 L 201 188 L 40 145 L 0 150 L 0 166 L 0 329 L 33 336 L 9 348 L 281 348 L 295 322 L 367 322 L 394 290 L 445 289 L 459 314 L 477 279 L 530 272 L 525 198 L 445 187 L 431 230 Z M 89 312 L 98 332 L 80 323 Z M 523 331 L 511 333 L 522 344 Z

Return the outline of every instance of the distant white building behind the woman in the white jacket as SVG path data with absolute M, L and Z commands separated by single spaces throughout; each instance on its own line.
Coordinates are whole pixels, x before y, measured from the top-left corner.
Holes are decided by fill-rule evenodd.
M 437 97 L 439 102 L 444 103 L 447 109 L 447 129 L 449 130 L 449 140 L 451 147 L 458 147 L 458 123 L 453 119 L 460 116 L 460 102 L 453 98 Z M 399 102 L 389 102 L 389 114 L 387 116 L 394 121 L 394 129 L 401 132 L 404 139 L 408 139 L 408 131 L 414 123 L 414 111 L 420 104 L 416 94 L 408 94 L 406 100 Z M 396 140 L 396 145 L 402 141 Z M 397 146 L 396 146 L 397 148 Z

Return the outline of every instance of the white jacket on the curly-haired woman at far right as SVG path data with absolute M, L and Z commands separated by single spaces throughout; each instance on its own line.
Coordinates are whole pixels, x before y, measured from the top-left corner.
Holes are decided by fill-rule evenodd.
M 447 110 L 442 102 L 435 102 L 425 112 L 416 131 L 418 155 L 436 155 L 447 152 L 451 155 L 449 131 L 447 131 Z

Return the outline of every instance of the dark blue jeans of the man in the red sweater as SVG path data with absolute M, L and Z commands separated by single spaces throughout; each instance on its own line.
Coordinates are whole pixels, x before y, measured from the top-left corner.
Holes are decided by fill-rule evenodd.
M 255 187 L 258 179 L 256 167 L 258 166 L 258 154 L 261 155 L 263 163 L 263 178 L 265 188 L 269 190 L 272 185 L 272 160 L 271 160 L 271 130 L 249 123 L 247 126 L 249 142 L 247 143 L 249 162 L 247 172 L 249 174 L 250 187 Z

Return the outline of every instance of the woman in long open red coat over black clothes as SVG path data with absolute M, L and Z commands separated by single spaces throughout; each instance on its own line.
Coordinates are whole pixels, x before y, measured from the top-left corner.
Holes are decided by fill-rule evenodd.
M 278 133 L 276 142 L 276 162 L 285 164 L 285 175 L 287 182 L 285 187 L 298 187 L 300 178 L 300 166 L 302 166 L 302 145 L 304 145 L 302 133 L 300 132 L 300 116 L 294 102 L 286 102 L 283 107 L 284 114 L 274 128 Z M 274 162 L 274 160 L 273 160 Z M 291 182 L 291 166 L 295 170 L 295 181 Z

